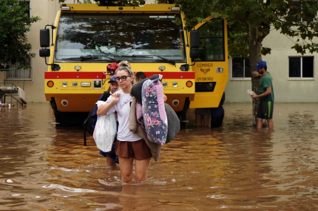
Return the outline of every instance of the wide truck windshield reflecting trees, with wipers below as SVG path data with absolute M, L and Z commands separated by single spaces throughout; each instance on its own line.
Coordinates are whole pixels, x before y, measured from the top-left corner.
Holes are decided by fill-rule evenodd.
M 110 58 L 130 62 L 186 62 L 183 27 L 174 23 L 175 18 L 180 16 L 62 13 L 54 62 L 79 62 L 73 58 L 80 56 L 98 57 L 80 59 L 81 62 L 113 61 Z

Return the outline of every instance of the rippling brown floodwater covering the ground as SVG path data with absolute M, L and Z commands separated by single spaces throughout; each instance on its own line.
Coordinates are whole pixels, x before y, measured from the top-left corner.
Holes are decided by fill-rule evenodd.
M 224 107 L 217 129 L 189 110 L 135 184 L 81 128 L 52 125 L 49 104 L 0 107 L 0 210 L 317 211 L 318 104 L 275 104 L 272 133 L 252 128 L 250 104 Z

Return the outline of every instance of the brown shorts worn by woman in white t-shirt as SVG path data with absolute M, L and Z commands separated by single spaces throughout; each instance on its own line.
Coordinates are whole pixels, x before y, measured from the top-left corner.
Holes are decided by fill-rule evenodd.
M 153 157 L 144 139 L 132 142 L 116 140 L 115 150 L 116 155 L 123 158 L 135 158 L 140 160 Z

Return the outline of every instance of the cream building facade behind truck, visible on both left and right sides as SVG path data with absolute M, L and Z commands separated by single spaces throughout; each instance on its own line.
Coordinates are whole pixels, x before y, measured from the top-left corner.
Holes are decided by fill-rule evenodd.
M 53 24 L 58 10 L 59 0 L 29 0 L 30 15 L 39 16 L 40 21 L 33 23 L 28 32 L 28 42 L 32 45 L 32 53 L 36 57 L 31 59 L 32 68 L 27 77 L 18 75 L 14 84 L 24 86 L 28 103 L 44 103 L 44 72 L 48 66 L 45 60 L 39 57 L 40 29 L 47 24 Z M 66 3 L 75 3 L 77 0 L 66 0 Z M 147 0 L 155 3 L 155 0 Z M 263 56 L 267 62 L 268 71 L 273 78 L 275 102 L 282 103 L 318 103 L 318 83 L 315 80 L 315 70 L 318 69 L 318 53 L 301 55 L 291 49 L 294 38 L 288 38 L 273 30 L 263 41 L 263 46 L 271 48 L 271 54 Z M 14 66 L 13 66 L 14 67 Z M 18 79 L 21 77 L 21 80 Z M 0 82 L 9 80 L 5 72 L 0 73 Z M 226 102 L 251 102 L 246 90 L 251 89 L 251 79 L 248 59 L 229 59 L 229 79 L 226 87 Z

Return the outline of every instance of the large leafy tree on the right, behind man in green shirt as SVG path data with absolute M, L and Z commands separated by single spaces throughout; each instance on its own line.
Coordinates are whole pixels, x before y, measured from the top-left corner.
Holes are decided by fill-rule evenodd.
M 249 56 L 251 70 L 262 60 L 262 54 L 270 53 L 271 49 L 263 47 L 262 41 L 271 30 L 296 37 L 292 49 L 298 53 L 318 52 L 318 45 L 313 42 L 318 36 L 318 0 L 176 0 L 176 3 L 182 5 L 190 25 L 210 15 L 227 19 L 229 53 Z M 256 92 L 258 84 L 259 77 L 252 76 L 252 89 Z M 257 106 L 258 101 L 253 101 L 254 125 Z

